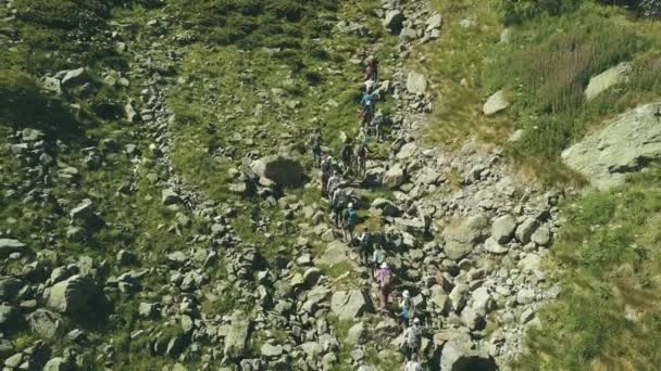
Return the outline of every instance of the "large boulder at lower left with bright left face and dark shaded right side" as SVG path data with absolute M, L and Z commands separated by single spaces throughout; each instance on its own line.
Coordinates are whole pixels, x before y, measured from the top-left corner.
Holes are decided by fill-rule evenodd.
M 91 310 L 89 303 L 97 294 L 96 284 L 87 277 L 75 274 L 49 287 L 45 293 L 46 305 L 62 314 Z

